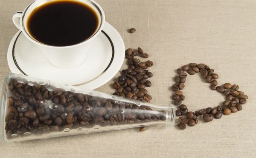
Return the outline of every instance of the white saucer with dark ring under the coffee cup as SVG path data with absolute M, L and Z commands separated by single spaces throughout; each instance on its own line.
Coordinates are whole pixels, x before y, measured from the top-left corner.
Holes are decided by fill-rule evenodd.
M 125 45 L 116 29 L 107 22 L 91 43 L 87 59 L 81 66 L 61 69 L 53 66 L 37 45 L 18 31 L 8 48 L 8 65 L 13 73 L 93 90 L 119 71 L 125 58 Z

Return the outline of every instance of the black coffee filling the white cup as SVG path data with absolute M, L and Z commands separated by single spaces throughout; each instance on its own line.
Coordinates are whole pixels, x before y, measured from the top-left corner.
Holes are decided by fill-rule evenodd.
M 90 6 L 72 0 L 51 1 L 36 8 L 27 27 L 33 38 L 46 45 L 75 45 L 90 38 L 99 18 Z

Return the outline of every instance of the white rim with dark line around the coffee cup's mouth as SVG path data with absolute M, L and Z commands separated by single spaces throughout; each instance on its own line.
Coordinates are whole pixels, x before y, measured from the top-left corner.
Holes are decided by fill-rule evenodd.
M 87 43 L 91 40 L 93 40 L 93 38 L 95 38 L 101 31 L 102 31 L 102 28 L 104 27 L 104 24 L 105 24 L 105 13 L 102 9 L 101 6 L 99 6 L 98 3 L 96 3 L 94 0 L 86 0 L 88 2 L 90 2 L 94 7 L 96 7 L 97 11 L 99 11 L 99 14 L 101 16 L 101 20 L 100 20 L 100 26 L 98 28 L 98 30 L 96 31 L 96 33 L 94 33 L 90 38 L 88 38 L 87 40 L 83 41 L 83 42 L 80 42 L 80 43 L 77 43 L 75 45 L 68 45 L 68 46 L 54 46 L 54 45 L 47 45 L 47 44 L 44 44 L 44 43 L 41 43 L 41 42 L 38 42 L 37 40 L 35 40 L 34 38 L 32 38 L 28 32 L 26 31 L 25 27 L 24 27 L 24 23 L 23 23 L 23 20 L 24 20 L 24 17 L 26 16 L 26 11 L 29 9 L 29 7 L 35 3 L 37 0 L 33 1 L 32 3 L 29 4 L 29 6 L 27 6 L 25 8 L 25 10 L 23 11 L 22 13 L 22 16 L 21 16 L 21 19 L 20 19 L 20 26 L 22 28 L 22 32 L 23 34 L 30 40 L 32 41 L 33 43 L 37 44 L 37 45 L 41 45 L 43 47 L 48 47 L 48 48 L 73 48 L 73 47 L 77 47 L 79 45 L 83 45 L 84 43 Z M 49 1 L 48 1 L 49 2 Z M 80 1 L 81 2 L 81 1 Z M 47 2 L 46 2 L 47 3 Z M 43 3 L 44 4 L 44 3 Z

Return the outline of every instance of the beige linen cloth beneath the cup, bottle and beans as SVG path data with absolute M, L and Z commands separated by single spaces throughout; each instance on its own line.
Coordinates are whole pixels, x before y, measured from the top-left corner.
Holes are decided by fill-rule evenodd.
M 18 29 L 15 11 L 32 0 L 0 0 L 0 87 L 10 72 L 6 54 Z M 249 96 L 238 113 L 186 130 L 147 127 L 75 135 L 15 144 L 0 142 L 1 158 L 255 158 L 256 157 L 256 1 L 255 0 L 96 0 L 106 21 L 121 34 L 125 48 L 141 47 L 154 66 L 151 103 L 167 105 L 175 70 L 205 63 L 218 73 L 218 85 L 239 85 Z M 134 34 L 128 28 L 134 27 Z M 117 52 L 122 53 L 122 52 Z M 143 59 L 144 61 L 145 59 Z M 126 61 L 126 60 L 125 60 Z M 122 69 L 127 68 L 124 62 Z M 113 93 L 111 81 L 96 90 Z M 1 90 L 1 89 L 0 89 Z M 224 96 L 209 89 L 199 74 L 188 76 L 183 104 L 195 111 L 215 107 Z

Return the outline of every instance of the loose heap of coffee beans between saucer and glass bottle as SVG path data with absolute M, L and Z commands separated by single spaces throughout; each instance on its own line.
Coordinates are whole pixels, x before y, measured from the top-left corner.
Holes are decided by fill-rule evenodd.
M 151 87 L 151 82 L 148 78 L 151 78 L 153 73 L 149 72 L 147 68 L 153 66 L 154 63 L 150 60 L 142 62 L 135 56 L 148 58 L 148 54 L 140 47 L 137 50 L 128 48 L 125 51 L 129 68 L 122 70 L 118 82 L 113 83 L 113 87 L 116 89 L 113 95 L 150 102 L 152 97 L 148 94 L 148 90 L 145 87 Z

